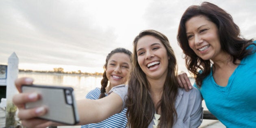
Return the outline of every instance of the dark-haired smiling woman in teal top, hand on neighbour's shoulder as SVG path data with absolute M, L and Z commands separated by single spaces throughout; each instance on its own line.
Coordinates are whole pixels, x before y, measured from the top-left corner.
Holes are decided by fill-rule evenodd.
M 184 12 L 177 39 L 209 111 L 228 128 L 255 128 L 253 39 L 244 39 L 231 15 L 209 2 Z M 188 88 L 184 76 L 179 83 Z

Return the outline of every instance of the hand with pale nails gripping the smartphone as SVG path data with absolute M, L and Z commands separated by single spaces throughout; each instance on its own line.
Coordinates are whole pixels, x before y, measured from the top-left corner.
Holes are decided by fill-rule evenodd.
M 32 85 L 32 78 L 18 78 L 15 80 L 15 86 L 20 92 L 13 96 L 13 104 L 19 109 L 18 117 L 22 121 L 22 125 L 28 128 L 46 128 L 52 124 L 51 121 L 38 119 L 38 116 L 46 114 L 45 107 L 25 109 L 24 104 L 28 102 L 35 102 L 40 99 L 37 93 L 21 93 L 22 85 Z

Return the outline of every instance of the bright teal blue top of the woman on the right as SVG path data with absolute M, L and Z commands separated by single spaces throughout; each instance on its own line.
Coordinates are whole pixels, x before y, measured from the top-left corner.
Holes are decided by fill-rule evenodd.
M 217 85 L 211 70 L 200 92 L 208 110 L 227 128 L 256 128 L 256 53 L 241 60 L 226 87 Z

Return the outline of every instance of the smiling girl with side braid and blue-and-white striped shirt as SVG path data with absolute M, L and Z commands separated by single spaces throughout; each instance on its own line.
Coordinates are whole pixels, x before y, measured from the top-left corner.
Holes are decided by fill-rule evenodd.
M 97 100 L 106 97 L 112 87 L 126 84 L 130 71 L 130 56 L 132 52 L 125 48 L 116 48 L 106 56 L 104 73 L 101 80 L 101 88 L 96 87 L 86 95 L 87 99 Z M 108 84 L 109 81 L 109 84 Z M 125 128 L 127 124 L 125 108 L 121 113 L 117 113 L 104 121 L 96 124 L 82 125 L 81 128 Z

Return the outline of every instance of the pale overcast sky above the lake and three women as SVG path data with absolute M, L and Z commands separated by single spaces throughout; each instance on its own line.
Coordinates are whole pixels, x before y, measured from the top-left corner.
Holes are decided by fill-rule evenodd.
M 141 30 L 165 34 L 187 72 L 176 35 L 187 7 L 203 0 L 0 0 L 0 64 L 15 52 L 20 69 L 103 72 L 106 55 Z M 207 0 L 228 11 L 245 38 L 256 38 L 255 0 Z

